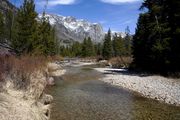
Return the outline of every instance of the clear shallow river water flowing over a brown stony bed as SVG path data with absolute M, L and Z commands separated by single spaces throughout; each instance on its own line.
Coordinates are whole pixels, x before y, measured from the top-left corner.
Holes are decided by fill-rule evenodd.
M 51 120 L 180 120 L 179 107 L 99 81 L 103 74 L 91 67 L 66 69 L 47 90 L 54 97 Z

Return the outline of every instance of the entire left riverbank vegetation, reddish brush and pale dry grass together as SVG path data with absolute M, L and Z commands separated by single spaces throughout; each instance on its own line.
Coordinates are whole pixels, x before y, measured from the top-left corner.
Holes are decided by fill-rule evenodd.
M 44 93 L 44 89 L 54 85 L 54 76 L 65 73 L 53 61 L 30 56 L 0 58 L 1 120 L 50 119 L 53 97 Z

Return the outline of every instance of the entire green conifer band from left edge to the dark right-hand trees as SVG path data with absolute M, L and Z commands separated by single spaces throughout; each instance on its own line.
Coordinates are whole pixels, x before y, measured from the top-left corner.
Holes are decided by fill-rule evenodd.
M 8 43 L 17 55 L 61 55 L 69 57 L 102 57 L 110 59 L 131 54 L 131 37 L 129 32 L 122 38 L 111 30 L 105 35 L 104 41 L 94 43 L 90 37 L 82 43 L 73 42 L 61 46 L 56 39 L 55 28 L 49 19 L 42 15 L 37 19 L 34 0 L 24 0 L 17 12 L 10 10 L 4 15 L 0 12 L 0 43 Z

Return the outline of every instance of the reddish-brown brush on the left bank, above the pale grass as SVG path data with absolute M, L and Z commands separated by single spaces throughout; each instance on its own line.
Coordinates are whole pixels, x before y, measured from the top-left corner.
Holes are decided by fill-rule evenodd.
M 44 70 L 46 63 L 45 57 L 0 56 L 0 81 L 4 82 L 9 77 L 16 89 L 26 89 L 32 73 Z

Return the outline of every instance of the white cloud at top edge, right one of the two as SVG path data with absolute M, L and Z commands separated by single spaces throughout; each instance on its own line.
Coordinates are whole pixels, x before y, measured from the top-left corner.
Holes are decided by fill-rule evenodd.
M 142 0 L 100 0 L 104 3 L 110 3 L 110 4 L 120 4 L 120 3 L 133 3 L 138 2 Z

